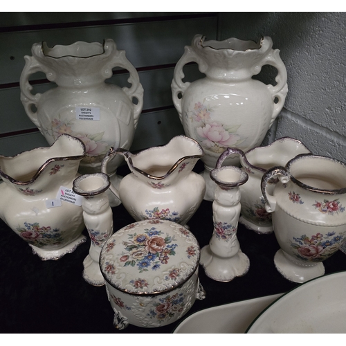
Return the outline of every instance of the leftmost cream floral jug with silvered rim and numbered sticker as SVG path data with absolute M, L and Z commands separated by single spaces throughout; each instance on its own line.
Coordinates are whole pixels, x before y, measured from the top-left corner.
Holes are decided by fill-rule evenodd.
M 0 217 L 42 260 L 57 260 L 86 241 L 72 191 L 84 156 L 82 141 L 68 134 L 51 147 L 0 156 Z

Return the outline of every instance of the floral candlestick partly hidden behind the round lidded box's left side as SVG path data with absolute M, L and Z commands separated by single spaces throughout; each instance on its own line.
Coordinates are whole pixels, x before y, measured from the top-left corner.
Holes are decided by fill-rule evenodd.
M 104 173 L 84 174 L 73 181 L 73 191 L 84 197 L 83 219 L 91 239 L 89 255 L 83 262 L 83 278 L 93 286 L 104 285 L 100 253 L 104 243 L 113 234 L 113 212 L 105 193 L 109 185 L 109 176 Z

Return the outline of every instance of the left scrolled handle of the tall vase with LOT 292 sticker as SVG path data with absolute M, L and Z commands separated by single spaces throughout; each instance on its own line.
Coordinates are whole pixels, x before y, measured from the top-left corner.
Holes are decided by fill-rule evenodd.
M 45 71 L 43 71 L 42 65 L 35 59 L 35 57 L 29 57 L 28 55 L 26 55 L 24 56 L 24 60 L 26 61 L 26 64 L 23 71 L 21 72 L 21 77 L 19 80 L 19 86 L 21 89 L 21 102 L 23 103 L 26 114 L 28 115 L 30 120 L 41 131 L 41 125 L 39 124 L 39 120 L 37 119 L 37 112 L 34 112 L 31 107 L 37 107 L 42 94 L 36 93 L 35 95 L 33 95 L 33 93 L 31 93 L 31 91 L 33 90 L 33 86 L 29 83 L 29 77 L 33 73 L 45 73 Z

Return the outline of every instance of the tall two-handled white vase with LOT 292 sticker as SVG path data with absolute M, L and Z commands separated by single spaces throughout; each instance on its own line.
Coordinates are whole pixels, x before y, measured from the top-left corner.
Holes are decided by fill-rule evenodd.
M 28 117 L 50 145 L 65 133 L 84 142 L 82 174 L 100 172 L 102 158 L 110 147 L 131 147 L 143 108 L 143 87 L 125 51 L 118 51 L 112 39 L 103 44 L 75 42 L 53 48 L 46 42 L 36 43 L 32 56 L 26 55 L 24 59 L 20 89 Z M 111 78 L 114 67 L 129 71 L 131 87 L 104 82 Z M 44 72 L 57 87 L 33 95 L 29 77 L 38 71 Z M 114 167 L 120 162 L 114 160 Z

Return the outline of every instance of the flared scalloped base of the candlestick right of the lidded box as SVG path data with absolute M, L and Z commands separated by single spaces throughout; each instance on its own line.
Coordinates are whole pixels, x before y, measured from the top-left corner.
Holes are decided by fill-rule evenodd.
M 206 246 L 204 246 L 206 248 Z M 202 248 L 203 251 L 203 248 Z M 235 277 L 243 276 L 250 268 L 250 260 L 242 251 L 238 251 L 233 257 L 219 257 L 212 254 L 210 260 L 210 249 L 205 251 L 204 260 L 201 265 L 210 279 L 221 282 L 229 282 Z M 207 264 L 206 264 L 207 263 Z

